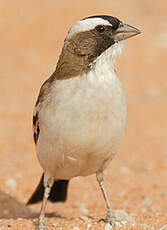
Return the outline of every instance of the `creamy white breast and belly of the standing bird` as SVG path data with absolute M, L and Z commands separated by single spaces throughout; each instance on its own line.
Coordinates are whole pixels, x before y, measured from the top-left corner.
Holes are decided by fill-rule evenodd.
M 109 60 L 100 58 L 83 76 L 56 81 L 43 103 L 37 154 L 56 179 L 103 170 L 120 146 L 125 97 Z

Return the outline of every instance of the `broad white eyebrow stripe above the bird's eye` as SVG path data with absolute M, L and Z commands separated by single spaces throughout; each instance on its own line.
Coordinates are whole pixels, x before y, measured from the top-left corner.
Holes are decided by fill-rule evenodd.
M 75 25 L 69 30 L 66 39 L 71 38 L 75 33 L 84 32 L 94 29 L 97 25 L 111 25 L 109 21 L 102 18 L 87 18 L 81 21 L 78 21 Z

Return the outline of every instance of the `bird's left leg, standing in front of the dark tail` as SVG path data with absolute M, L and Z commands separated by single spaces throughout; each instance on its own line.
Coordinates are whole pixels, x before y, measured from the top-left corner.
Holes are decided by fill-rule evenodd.
M 45 207 L 46 207 L 46 202 L 50 194 L 50 190 L 52 188 L 54 180 L 50 178 L 47 174 L 44 174 L 44 196 L 42 200 L 42 206 L 41 206 L 41 211 L 38 219 L 38 226 L 37 230 L 45 230 L 46 225 L 45 225 Z

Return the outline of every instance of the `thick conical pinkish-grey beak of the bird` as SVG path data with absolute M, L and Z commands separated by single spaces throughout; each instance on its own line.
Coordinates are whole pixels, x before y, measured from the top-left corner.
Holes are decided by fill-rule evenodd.
M 125 40 L 127 38 L 131 38 L 133 36 L 136 36 L 140 34 L 141 31 L 137 28 L 130 26 L 128 24 L 120 23 L 118 29 L 116 30 L 116 33 L 114 35 L 114 40 L 116 42 Z

